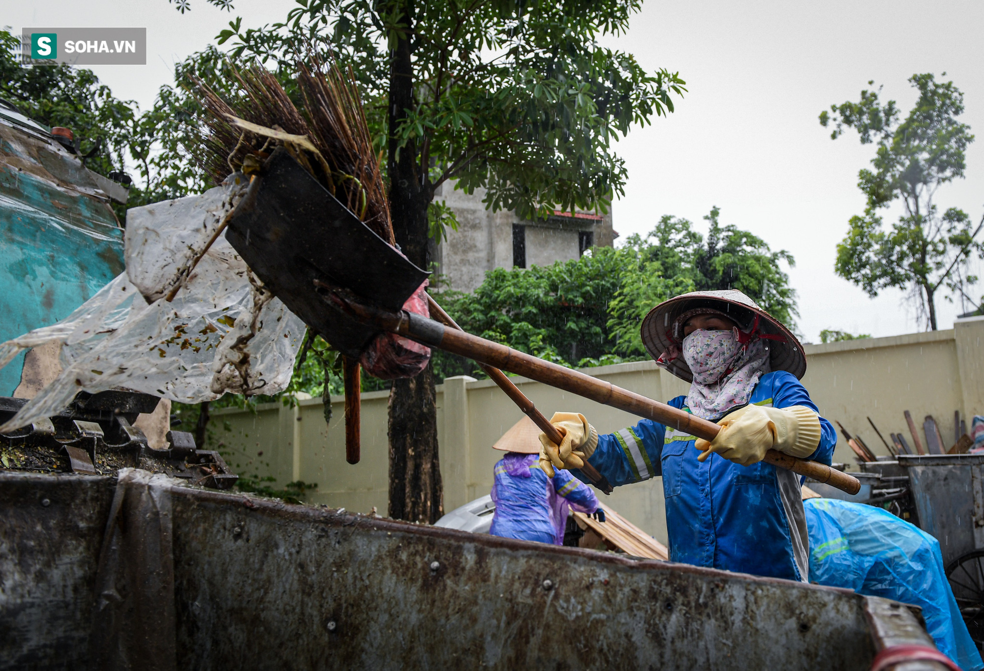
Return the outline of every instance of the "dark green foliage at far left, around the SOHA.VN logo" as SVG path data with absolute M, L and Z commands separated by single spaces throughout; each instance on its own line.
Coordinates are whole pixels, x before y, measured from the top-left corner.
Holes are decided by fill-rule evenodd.
M 136 103 L 116 98 L 92 70 L 21 64 L 21 37 L 0 30 L 0 96 L 46 126 L 72 130 L 83 154 L 101 142 L 86 166 L 100 174 L 124 166 Z

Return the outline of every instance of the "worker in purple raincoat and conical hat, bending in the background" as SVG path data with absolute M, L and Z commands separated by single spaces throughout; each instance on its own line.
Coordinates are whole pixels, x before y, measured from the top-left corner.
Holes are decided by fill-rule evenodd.
M 495 464 L 495 517 L 489 533 L 563 545 L 568 506 L 602 521 L 604 513 L 587 485 L 567 471 L 547 477 L 539 464 L 539 432 L 523 417 L 492 446 L 507 454 Z

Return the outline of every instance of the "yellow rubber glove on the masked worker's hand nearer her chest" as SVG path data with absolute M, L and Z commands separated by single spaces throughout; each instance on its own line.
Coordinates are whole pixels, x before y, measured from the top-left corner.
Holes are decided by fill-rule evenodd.
M 770 449 L 792 457 L 808 457 L 820 445 L 820 418 L 804 405 L 763 407 L 746 405 L 717 422 L 721 430 L 710 443 L 698 439 L 695 447 L 704 461 L 712 452 L 750 466 Z

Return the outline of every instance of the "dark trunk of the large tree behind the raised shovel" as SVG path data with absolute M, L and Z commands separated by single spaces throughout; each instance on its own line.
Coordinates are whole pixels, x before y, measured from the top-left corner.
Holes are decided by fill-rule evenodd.
M 395 129 L 413 109 L 411 60 L 412 17 L 402 5 L 400 23 L 408 27 L 397 41 L 390 70 L 390 215 L 400 250 L 414 264 L 428 269 L 427 206 L 433 197 L 426 167 L 418 165 L 413 141 L 397 150 Z M 437 446 L 437 395 L 434 370 L 396 380 L 390 392 L 390 517 L 434 522 L 443 514 L 444 496 Z

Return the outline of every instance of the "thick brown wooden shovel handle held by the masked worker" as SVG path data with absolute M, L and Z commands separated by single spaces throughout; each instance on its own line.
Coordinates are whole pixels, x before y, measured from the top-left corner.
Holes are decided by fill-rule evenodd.
M 684 435 L 712 441 L 720 430 L 720 427 L 713 422 L 708 422 L 706 419 L 701 419 L 671 405 L 660 403 L 658 400 L 624 390 L 610 382 L 584 375 L 581 371 L 544 361 L 504 344 L 446 328 L 443 324 L 426 317 L 406 311 L 386 312 L 378 308 L 354 303 L 338 294 L 332 294 L 329 299 L 358 319 L 375 324 L 386 331 L 444 349 L 452 354 L 466 356 L 479 363 L 495 366 L 510 373 L 523 375 L 531 380 L 605 405 L 617 407 L 640 417 L 646 417 Z M 857 478 L 830 468 L 824 463 L 789 457 L 775 450 L 769 450 L 763 460 L 799 475 L 813 478 L 818 482 L 827 483 L 848 494 L 857 494 L 861 491 L 861 483 L 858 482 Z

